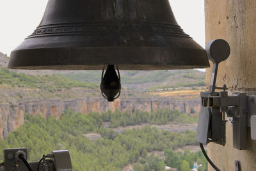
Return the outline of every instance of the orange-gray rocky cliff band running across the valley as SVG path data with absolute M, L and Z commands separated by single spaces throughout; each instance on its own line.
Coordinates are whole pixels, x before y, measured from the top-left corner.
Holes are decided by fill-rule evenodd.
M 180 112 L 196 113 L 200 110 L 200 100 L 175 100 L 173 98 L 119 98 L 109 103 L 103 98 L 80 98 L 73 100 L 45 100 L 29 101 L 19 105 L 0 104 L 0 137 L 8 136 L 24 124 L 24 113 L 31 115 L 42 115 L 47 118 L 49 115 L 59 118 L 64 110 L 72 108 L 74 112 L 88 114 L 90 112 L 106 112 L 108 110 L 153 110 L 177 109 Z

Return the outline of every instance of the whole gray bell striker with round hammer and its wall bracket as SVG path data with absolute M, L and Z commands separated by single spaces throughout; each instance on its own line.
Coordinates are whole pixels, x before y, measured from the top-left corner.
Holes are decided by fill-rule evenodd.
M 232 93 L 228 96 L 227 85 L 216 87 L 218 64 L 230 54 L 230 47 L 225 40 L 210 41 L 205 50 L 212 61 L 212 75 L 209 91 L 201 92 L 202 108 L 198 119 L 196 141 L 202 144 L 214 142 L 225 145 L 225 114 L 232 119 L 233 147 L 246 149 L 247 127 L 251 126 L 251 137 L 256 140 L 256 96 L 246 93 Z M 216 89 L 221 91 L 216 92 Z

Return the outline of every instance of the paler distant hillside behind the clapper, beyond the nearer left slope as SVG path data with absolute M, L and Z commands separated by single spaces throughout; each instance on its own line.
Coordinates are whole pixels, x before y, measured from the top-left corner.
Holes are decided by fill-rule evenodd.
M 100 84 L 101 71 L 72 71 L 60 75 L 79 82 Z M 205 85 L 205 73 L 197 70 L 120 71 L 120 75 L 126 89 L 145 91 Z

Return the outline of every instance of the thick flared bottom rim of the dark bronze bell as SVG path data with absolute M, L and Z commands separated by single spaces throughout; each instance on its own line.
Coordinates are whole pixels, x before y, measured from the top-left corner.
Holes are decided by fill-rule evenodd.
M 95 55 L 95 50 L 100 54 Z M 14 50 L 8 68 L 25 70 L 102 70 L 104 64 L 120 70 L 179 70 L 207 68 L 209 60 L 203 48 L 104 47 L 45 48 Z

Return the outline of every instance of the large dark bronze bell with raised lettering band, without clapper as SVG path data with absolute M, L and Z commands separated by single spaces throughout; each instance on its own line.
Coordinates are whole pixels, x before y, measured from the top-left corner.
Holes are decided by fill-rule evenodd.
M 168 0 L 49 0 L 36 30 L 8 68 L 170 70 L 209 66 L 177 24 Z

